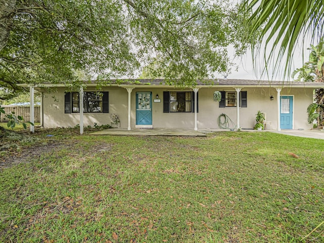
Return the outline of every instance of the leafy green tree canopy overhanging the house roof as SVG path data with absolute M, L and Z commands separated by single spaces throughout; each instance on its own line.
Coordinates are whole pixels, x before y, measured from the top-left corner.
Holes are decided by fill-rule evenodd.
M 242 15 L 223 1 L 0 0 L 0 99 L 17 84 L 151 76 L 192 85 L 228 72 L 226 47 L 245 50 Z

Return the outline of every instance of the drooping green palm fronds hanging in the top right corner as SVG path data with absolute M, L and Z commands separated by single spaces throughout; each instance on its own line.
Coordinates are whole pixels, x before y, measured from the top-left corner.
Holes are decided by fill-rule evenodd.
M 250 35 L 256 36 L 254 57 L 258 48 L 265 45 L 262 52 L 266 64 L 274 61 L 274 68 L 278 68 L 285 60 L 285 74 L 290 75 L 299 40 L 310 37 L 317 42 L 323 36 L 324 0 L 242 0 L 241 6 L 251 15 L 248 24 L 252 25 Z M 274 57 L 278 48 L 278 56 Z

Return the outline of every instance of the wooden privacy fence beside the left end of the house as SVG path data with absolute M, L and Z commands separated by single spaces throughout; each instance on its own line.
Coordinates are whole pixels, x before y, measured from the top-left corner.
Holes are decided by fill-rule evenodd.
M 7 114 L 11 114 L 12 111 L 15 112 L 15 115 L 21 115 L 24 118 L 24 121 L 30 120 L 29 106 L 1 106 L 5 108 Z M 0 123 L 7 123 L 8 119 L 5 119 L 5 114 L 0 113 Z M 34 107 L 34 123 L 41 122 L 41 107 Z

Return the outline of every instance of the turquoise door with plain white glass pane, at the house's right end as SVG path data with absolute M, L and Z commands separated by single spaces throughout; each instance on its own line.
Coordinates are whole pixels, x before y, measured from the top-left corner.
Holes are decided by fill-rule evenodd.
M 280 128 L 293 129 L 293 96 L 280 96 Z

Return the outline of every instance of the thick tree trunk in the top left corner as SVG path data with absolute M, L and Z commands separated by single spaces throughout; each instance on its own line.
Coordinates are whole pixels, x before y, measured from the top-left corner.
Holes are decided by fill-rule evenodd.
M 16 0 L 0 0 L 0 52 L 7 45 L 13 25 Z

